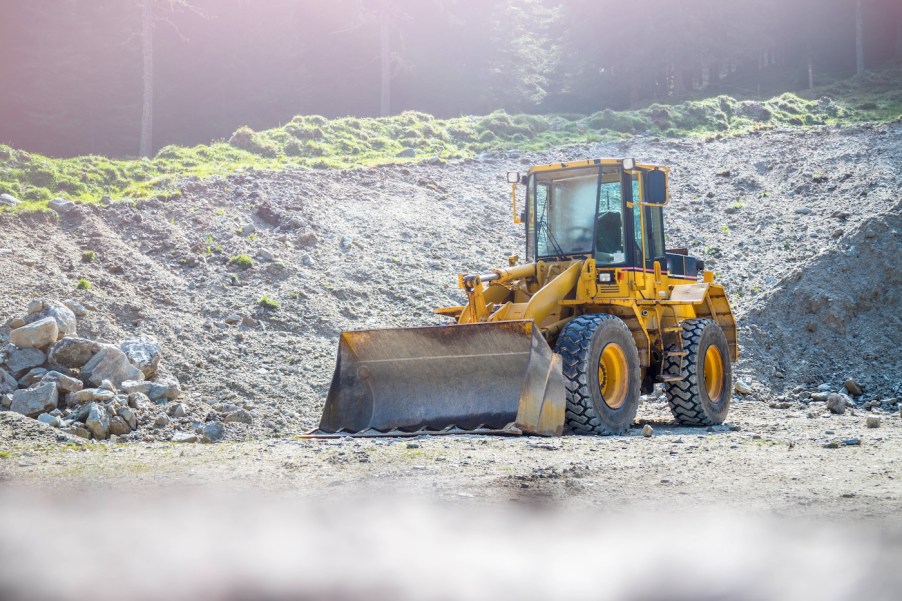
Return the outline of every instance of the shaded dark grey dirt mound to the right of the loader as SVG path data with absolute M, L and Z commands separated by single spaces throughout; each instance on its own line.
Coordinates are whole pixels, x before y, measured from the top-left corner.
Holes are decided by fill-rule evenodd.
M 900 249 L 902 203 L 784 277 L 745 316 L 746 363 L 764 380 L 902 394 Z

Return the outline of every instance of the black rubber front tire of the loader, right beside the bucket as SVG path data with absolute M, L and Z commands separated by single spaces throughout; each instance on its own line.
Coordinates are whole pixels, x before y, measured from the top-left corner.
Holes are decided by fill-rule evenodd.
M 624 351 L 629 382 L 626 399 L 617 409 L 602 398 L 598 362 L 609 343 Z M 576 434 L 622 434 L 639 410 L 639 351 L 622 319 L 605 313 L 571 319 L 558 337 L 567 395 L 566 425 Z

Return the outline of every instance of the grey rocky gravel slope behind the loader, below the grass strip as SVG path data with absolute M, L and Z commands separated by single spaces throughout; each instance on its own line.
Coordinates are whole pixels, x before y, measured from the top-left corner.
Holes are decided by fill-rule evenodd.
M 432 308 L 461 301 L 457 273 L 522 253 L 506 171 L 593 156 L 673 167 L 668 245 L 704 257 L 731 293 L 751 398 L 852 377 L 859 401 L 895 406 L 898 122 L 252 171 L 186 181 L 177 201 L 6 215 L 0 320 L 34 298 L 90 304 L 81 335 L 160 341 L 188 422 L 242 408 L 251 423 L 226 424 L 227 437 L 297 434 L 318 420 L 341 330 L 440 323 Z

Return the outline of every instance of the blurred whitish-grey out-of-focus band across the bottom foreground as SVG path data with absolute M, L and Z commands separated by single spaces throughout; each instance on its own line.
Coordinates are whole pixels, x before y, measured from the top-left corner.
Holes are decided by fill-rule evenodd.
M 699 507 L 0 493 L 4 599 L 898 599 L 902 536 Z

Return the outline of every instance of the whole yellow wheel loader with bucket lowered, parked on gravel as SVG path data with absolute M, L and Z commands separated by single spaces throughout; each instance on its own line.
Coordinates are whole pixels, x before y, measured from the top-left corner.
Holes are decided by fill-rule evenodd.
M 311 434 L 620 434 L 656 382 L 680 424 L 722 423 L 736 322 L 714 273 L 665 247 L 669 175 L 634 159 L 508 174 L 526 262 L 459 276 L 467 303 L 436 310 L 452 325 L 343 332 Z

